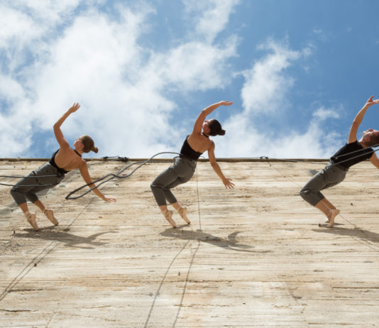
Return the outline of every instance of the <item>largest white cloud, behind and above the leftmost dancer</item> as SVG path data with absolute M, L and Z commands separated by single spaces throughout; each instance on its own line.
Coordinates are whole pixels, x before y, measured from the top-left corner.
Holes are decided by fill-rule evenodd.
M 223 73 L 228 58 L 236 55 L 236 38 L 231 35 L 227 46 L 194 38 L 154 53 L 139 43 L 154 10 L 145 5 L 132 11 L 121 4 L 116 19 L 90 6 L 59 31 L 62 17 L 78 3 L 53 9 L 51 2 L 37 14 L 38 2 L 25 28 L 40 26 L 33 45 L 18 33 L 18 49 L 30 52 L 34 61 L 16 60 L 13 70 L 0 77 L 0 84 L 8 86 L 3 92 L 13 94 L 9 112 L 0 113 L 3 155 L 25 156 L 33 136 L 51 131 L 73 102 L 82 107 L 65 121 L 62 131 L 68 139 L 89 134 L 99 155 L 141 157 L 177 151 L 181 131 L 170 121 L 177 106 L 167 89 L 183 94 L 224 87 L 229 79 Z M 49 10 L 53 18 L 44 25 L 40 18 L 49 16 Z M 3 40 L 13 46 L 10 38 Z M 50 140 L 45 143 L 50 147 Z

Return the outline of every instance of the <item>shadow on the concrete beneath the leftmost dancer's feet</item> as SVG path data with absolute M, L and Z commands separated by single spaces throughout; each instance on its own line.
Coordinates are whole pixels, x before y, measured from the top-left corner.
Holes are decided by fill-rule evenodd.
M 40 231 L 34 231 L 33 229 L 23 229 L 26 231 L 26 234 L 16 233 L 13 234 L 15 237 L 21 238 L 30 238 L 30 239 L 44 239 L 47 241 L 60 241 L 63 243 L 63 246 L 72 247 L 72 248 L 83 248 L 83 249 L 93 249 L 96 246 L 102 246 L 106 243 L 102 243 L 101 241 L 95 241 L 98 236 L 102 234 L 108 234 L 111 231 L 99 232 L 98 234 L 92 234 L 88 237 L 76 236 L 75 234 L 67 233 L 68 229 L 64 231 L 59 231 L 57 229 L 52 229 L 54 226 L 47 226 L 45 228 L 40 229 Z M 89 245 L 89 246 L 79 246 L 79 245 Z

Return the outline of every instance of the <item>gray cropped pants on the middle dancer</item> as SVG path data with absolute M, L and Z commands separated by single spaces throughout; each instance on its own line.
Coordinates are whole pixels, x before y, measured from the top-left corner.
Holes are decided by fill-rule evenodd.
M 189 158 L 174 158 L 174 164 L 160 173 L 151 183 L 151 191 L 159 206 L 166 205 L 166 199 L 170 204 L 177 202 L 171 189 L 189 181 L 194 175 L 196 160 Z

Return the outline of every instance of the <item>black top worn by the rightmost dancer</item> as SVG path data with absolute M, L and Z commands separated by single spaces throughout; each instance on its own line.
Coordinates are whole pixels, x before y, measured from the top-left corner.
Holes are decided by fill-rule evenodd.
M 370 158 L 373 155 L 373 152 L 373 148 L 363 148 L 361 143 L 354 141 L 353 143 L 346 143 L 345 146 L 331 156 L 330 160 L 333 164 L 339 164 L 344 166 L 344 168 L 350 168 L 352 165 Z

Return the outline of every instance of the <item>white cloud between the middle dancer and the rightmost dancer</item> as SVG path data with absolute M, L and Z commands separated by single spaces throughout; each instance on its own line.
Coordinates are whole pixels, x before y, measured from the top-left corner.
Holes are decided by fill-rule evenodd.
M 325 119 L 339 117 L 334 109 L 320 107 L 314 112 L 306 131 L 296 131 L 297 124 L 282 129 L 272 129 L 270 125 L 256 124 L 258 116 L 270 114 L 270 119 L 278 110 L 285 111 L 288 93 L 295 87 L 295 78 L 286 71 L 297 65 L 302 56 L 310 55 L 309 48 L 291 50 L 287 43 L 269 40 L 261 47 L 270 53 L 254 63 L 253 68 L 244 73 L 245 84 L 241 90 L 243 109 L 232 115 L 224 124 L 226 136 L 217 140 L 216 154 L 219 157 L 259 158 L 326 158 L 335 151 L 329 145 L 331 140 L 339 140 L 333 131 L 323 128 Z M 340 111 L 341 109 L 339 109 Z M 279 123 L 279 122 L 277 122 Z

